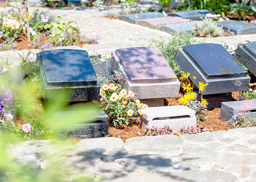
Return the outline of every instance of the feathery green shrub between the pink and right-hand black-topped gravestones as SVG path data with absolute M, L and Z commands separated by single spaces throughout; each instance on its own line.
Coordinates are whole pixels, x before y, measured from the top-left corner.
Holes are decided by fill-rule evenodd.
M 168 37 L 167 39 L 164 39 L 163 37 L 160 37 L 160 40 L 150 39 L 148 47 L 159 48 L 167 62 L 172 67 L 172 70 L 176 76 L 181 77 L 184 71 L 175 61 L 177 50 L 178 48 L 182 48 L 184 46 L 204 42 L 204 40 L 203 42 L 197 41 L 195 36 L 196 32 L 186 33 L 185 31 L 180 30 L 178 32 L 174 32 L 173 36 Z

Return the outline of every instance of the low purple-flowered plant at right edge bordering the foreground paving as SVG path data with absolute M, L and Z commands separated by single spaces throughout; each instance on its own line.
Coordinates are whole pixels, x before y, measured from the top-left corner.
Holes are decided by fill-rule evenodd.
M 256 126 L 256 119 L 254 116 L 246 114 L 242 111 L 238 112 L 238 114 L 231 117 L 230 120 L 227 121 L 226 125 L 230 125 L 231 128 L 249 128 Z

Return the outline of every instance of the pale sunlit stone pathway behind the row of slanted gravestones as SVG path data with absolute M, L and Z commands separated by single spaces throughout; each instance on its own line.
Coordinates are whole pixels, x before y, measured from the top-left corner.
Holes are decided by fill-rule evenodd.
M 148 8 L 160 9 L 161 5 L 157 0 L 141 0 L 141 3 L 136 4 L 136 8 L 140 8 L 141 11 L 146 11 Z M 101 37 L 99 44 L 84 45 L 82 48 L 78 46 L 67 46 L 57 48 L 71 48 L 86 50 L 89 55 L 95 52 L 102 52 L 103 55 L 109 55 L 111 51 L 126 47 L 147 47 L 150 39 L 159 39 L 160 36 L 167 38 L 172 36 L 167 32 L 143 27 L 141 25 L 128 23 L 121 20 L 113 20 L 103 18 L 104 12 L 112 11 L 114 13 L 125 12 L 124 4 L 117 4 L 111 6 L 99 6 L 99 7 L 75 7 L 72 8 L 37 8 L 40 11 L 49 11 L 57 16 L 61 16 L 65 22 L 75 20 L 83 33 L 90 38 L 95 38 L 97 35 Z M 4 8 L 0 8 L 3 11 Z M 34 8 L 31 8 L 32 12 Z M 198 38 L 203 40 L 203 38 Z M 237 35 L 232 37 L 214 37 L 207 38 L 206 43 L 221 43 L 221 40 L 231 42 L 236 47 L 241 42 L 247 43 L 250 41 L 256 41 L 256 34 L 249 35 Z M 35 60 L 35 53 L 40 50 L 32 50 L 33 54 L 30 55 L 31 60 Z M 19 54 L 27 54 L 27 51 L 18 51 Z M 3 59 L 9 59 L 14 61 L 17 65 L 19 62 L 18 54 L 14 54 L 12 51 L 1 51 L 0 56 Z

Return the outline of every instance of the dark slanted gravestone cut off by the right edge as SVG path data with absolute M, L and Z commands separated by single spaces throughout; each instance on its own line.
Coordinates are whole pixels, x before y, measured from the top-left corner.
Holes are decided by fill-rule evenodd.
M 256 42 L 238 46 L 235 58 L 256 76 Z

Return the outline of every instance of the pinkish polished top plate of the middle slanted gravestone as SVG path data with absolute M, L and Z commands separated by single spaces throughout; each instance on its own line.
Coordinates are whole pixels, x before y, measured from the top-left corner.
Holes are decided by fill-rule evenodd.
M 116 54 L 131 83 L 175 82 L 177 76 L 158 48 L 129 47 Z

